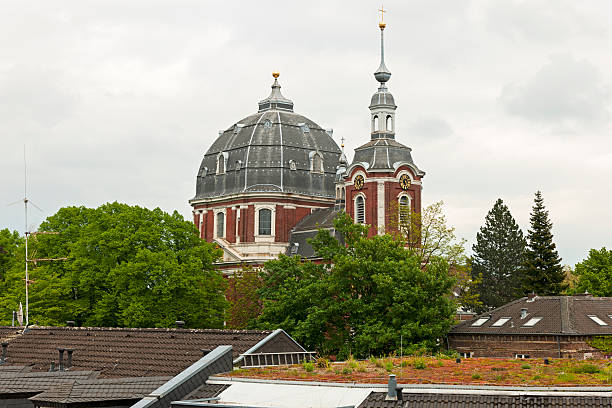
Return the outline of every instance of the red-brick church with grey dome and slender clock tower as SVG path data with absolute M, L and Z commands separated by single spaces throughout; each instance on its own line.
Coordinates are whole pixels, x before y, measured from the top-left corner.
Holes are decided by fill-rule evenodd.
M 425 172 L 412 160 L 412 149 L 396 140 L 385 27 L 381 21 L 369 140 L 355 149 L 352 163 L 331 129 L 294 112 L 278 72 L 257 113 L 220 131 L 204 155 L 189 203 L 201 238 L 223 249 L 225 273 L 281 253 L 313 257 L 308 238 L 319 228 L 333 232 L 342 210 L 369 225 L 370 235 L 392 229 L 392 211 L 421 211 Z

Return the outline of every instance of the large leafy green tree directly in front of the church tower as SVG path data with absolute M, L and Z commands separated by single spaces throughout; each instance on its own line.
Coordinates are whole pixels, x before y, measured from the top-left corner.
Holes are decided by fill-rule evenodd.
M 367 226 L 345 213 L 334 222 L 341 244 L 327 230 L 311 241 L 324 263 L 280 256 L 262 272 L 261 328 L 282 327 L 323 354 L 364 357 L 404 344 L 435 347 L 453 322 L 455 280 L 448 263 L 421 258 L 390 235 L 367 237 Z

